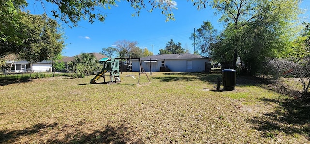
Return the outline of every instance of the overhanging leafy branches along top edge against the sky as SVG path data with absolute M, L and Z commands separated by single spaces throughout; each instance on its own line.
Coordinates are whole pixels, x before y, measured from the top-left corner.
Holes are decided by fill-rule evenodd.
M 55 4 L 58 10 L 52 10 L 55 18 L 60 18 L 65 23 L 72 23 L 73 26 L 78 26 L 78 22 L 82 19 L 93 23 L 94 20 L 104 22 L 106 13 L 102 13 L 103 9 L 111 9 L 116 6 L 118 0 L 47 0 Z M 139 16 L 142 9 L 150 6 L 150 12 L 154 9 L 161 9 L 161 13 L 166 16 L 166 21 L 174 20 L 172 9 L 175 8 L 175 3 L 170 0 L 150 0 L 149 5 L 144 3 L 144 0 L 126 0 L 130 6 L 135 9 L 133 16 Z

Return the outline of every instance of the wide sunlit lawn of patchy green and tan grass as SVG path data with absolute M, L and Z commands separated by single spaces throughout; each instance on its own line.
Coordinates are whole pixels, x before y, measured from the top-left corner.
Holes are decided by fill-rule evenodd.
M 310 143 L 309 104 L 255 79 L 217 92 L 220 74 L 147 74 L 140 86 L 138 72 L 111 85 L 60 76 L 0 86 L 0 144 Z

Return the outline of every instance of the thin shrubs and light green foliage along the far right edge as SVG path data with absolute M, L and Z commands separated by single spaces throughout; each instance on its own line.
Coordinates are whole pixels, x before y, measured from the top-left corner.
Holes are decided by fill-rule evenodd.
M 291 74 L 302 84 L 302 98 L 310 100 L 310 24 L 304 23 L 304 31 L 292 44 L 289 58 L 271 59 L 268 61 L 266 74 L 275 77 Z

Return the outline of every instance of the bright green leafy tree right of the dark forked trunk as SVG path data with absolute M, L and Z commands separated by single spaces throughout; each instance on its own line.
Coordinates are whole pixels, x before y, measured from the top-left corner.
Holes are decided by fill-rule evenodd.
M 300 14 L 298 5 L 298 0 L 264 1 L 262 12 L 238 29 L 243 72 L 256 74 L 268 58 L 289 55 L 291 37 L 297 35 L 294 22 Z

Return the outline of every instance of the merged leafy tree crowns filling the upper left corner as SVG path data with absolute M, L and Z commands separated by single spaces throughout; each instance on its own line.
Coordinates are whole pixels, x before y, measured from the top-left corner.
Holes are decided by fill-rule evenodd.
M 56 20 L 22 12 L 25 0 L 0 0 L 0 57 L 19 54 L 29 62 L 51 60 L 64 47 Z

